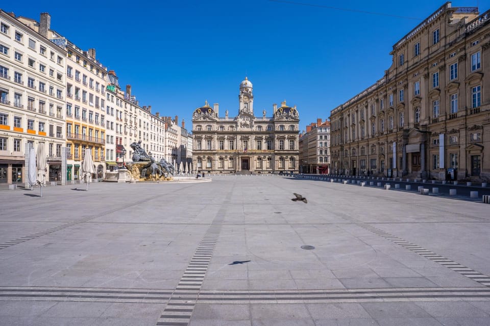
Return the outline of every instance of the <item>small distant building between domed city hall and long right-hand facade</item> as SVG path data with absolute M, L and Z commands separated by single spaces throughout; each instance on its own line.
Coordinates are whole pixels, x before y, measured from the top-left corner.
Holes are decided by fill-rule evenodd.
M 330 171 L 330 121 L 316 119 L 300 134 L 300 173 L 328 174 Z

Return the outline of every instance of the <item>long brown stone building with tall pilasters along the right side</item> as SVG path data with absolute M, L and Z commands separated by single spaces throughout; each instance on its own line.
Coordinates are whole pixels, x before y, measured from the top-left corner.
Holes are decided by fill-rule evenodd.
M 332 110 L 331 173 L 488 180 L 489 18 L 448 2 L 398 41 L 384 76 Z

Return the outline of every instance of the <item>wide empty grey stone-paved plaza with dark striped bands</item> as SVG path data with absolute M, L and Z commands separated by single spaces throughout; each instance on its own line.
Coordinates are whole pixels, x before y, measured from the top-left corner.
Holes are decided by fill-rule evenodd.
M 490 324 L 488 204 L 211 179 L 0 191 L 0 325 Z

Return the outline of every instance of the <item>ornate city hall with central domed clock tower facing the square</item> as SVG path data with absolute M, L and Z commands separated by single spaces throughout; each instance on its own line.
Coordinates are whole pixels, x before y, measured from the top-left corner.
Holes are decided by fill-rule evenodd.
M 298 172 L 299 114 L 296 106 L 273 105 L 272 117 L 254 114 L 253 85 L 240 83 L 238 114 L 219 116 L 219 106 L 205 105 L 192 115 L 192 164 L 206 173 Z

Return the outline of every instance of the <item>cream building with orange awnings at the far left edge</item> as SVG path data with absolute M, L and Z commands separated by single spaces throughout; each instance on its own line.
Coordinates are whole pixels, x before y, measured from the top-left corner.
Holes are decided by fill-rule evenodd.
M 27 182 L 26 145 L 45 144 L 48 175 L 61 178 L 67 51 L 41 23 L 0 10 L 0 183 Z

